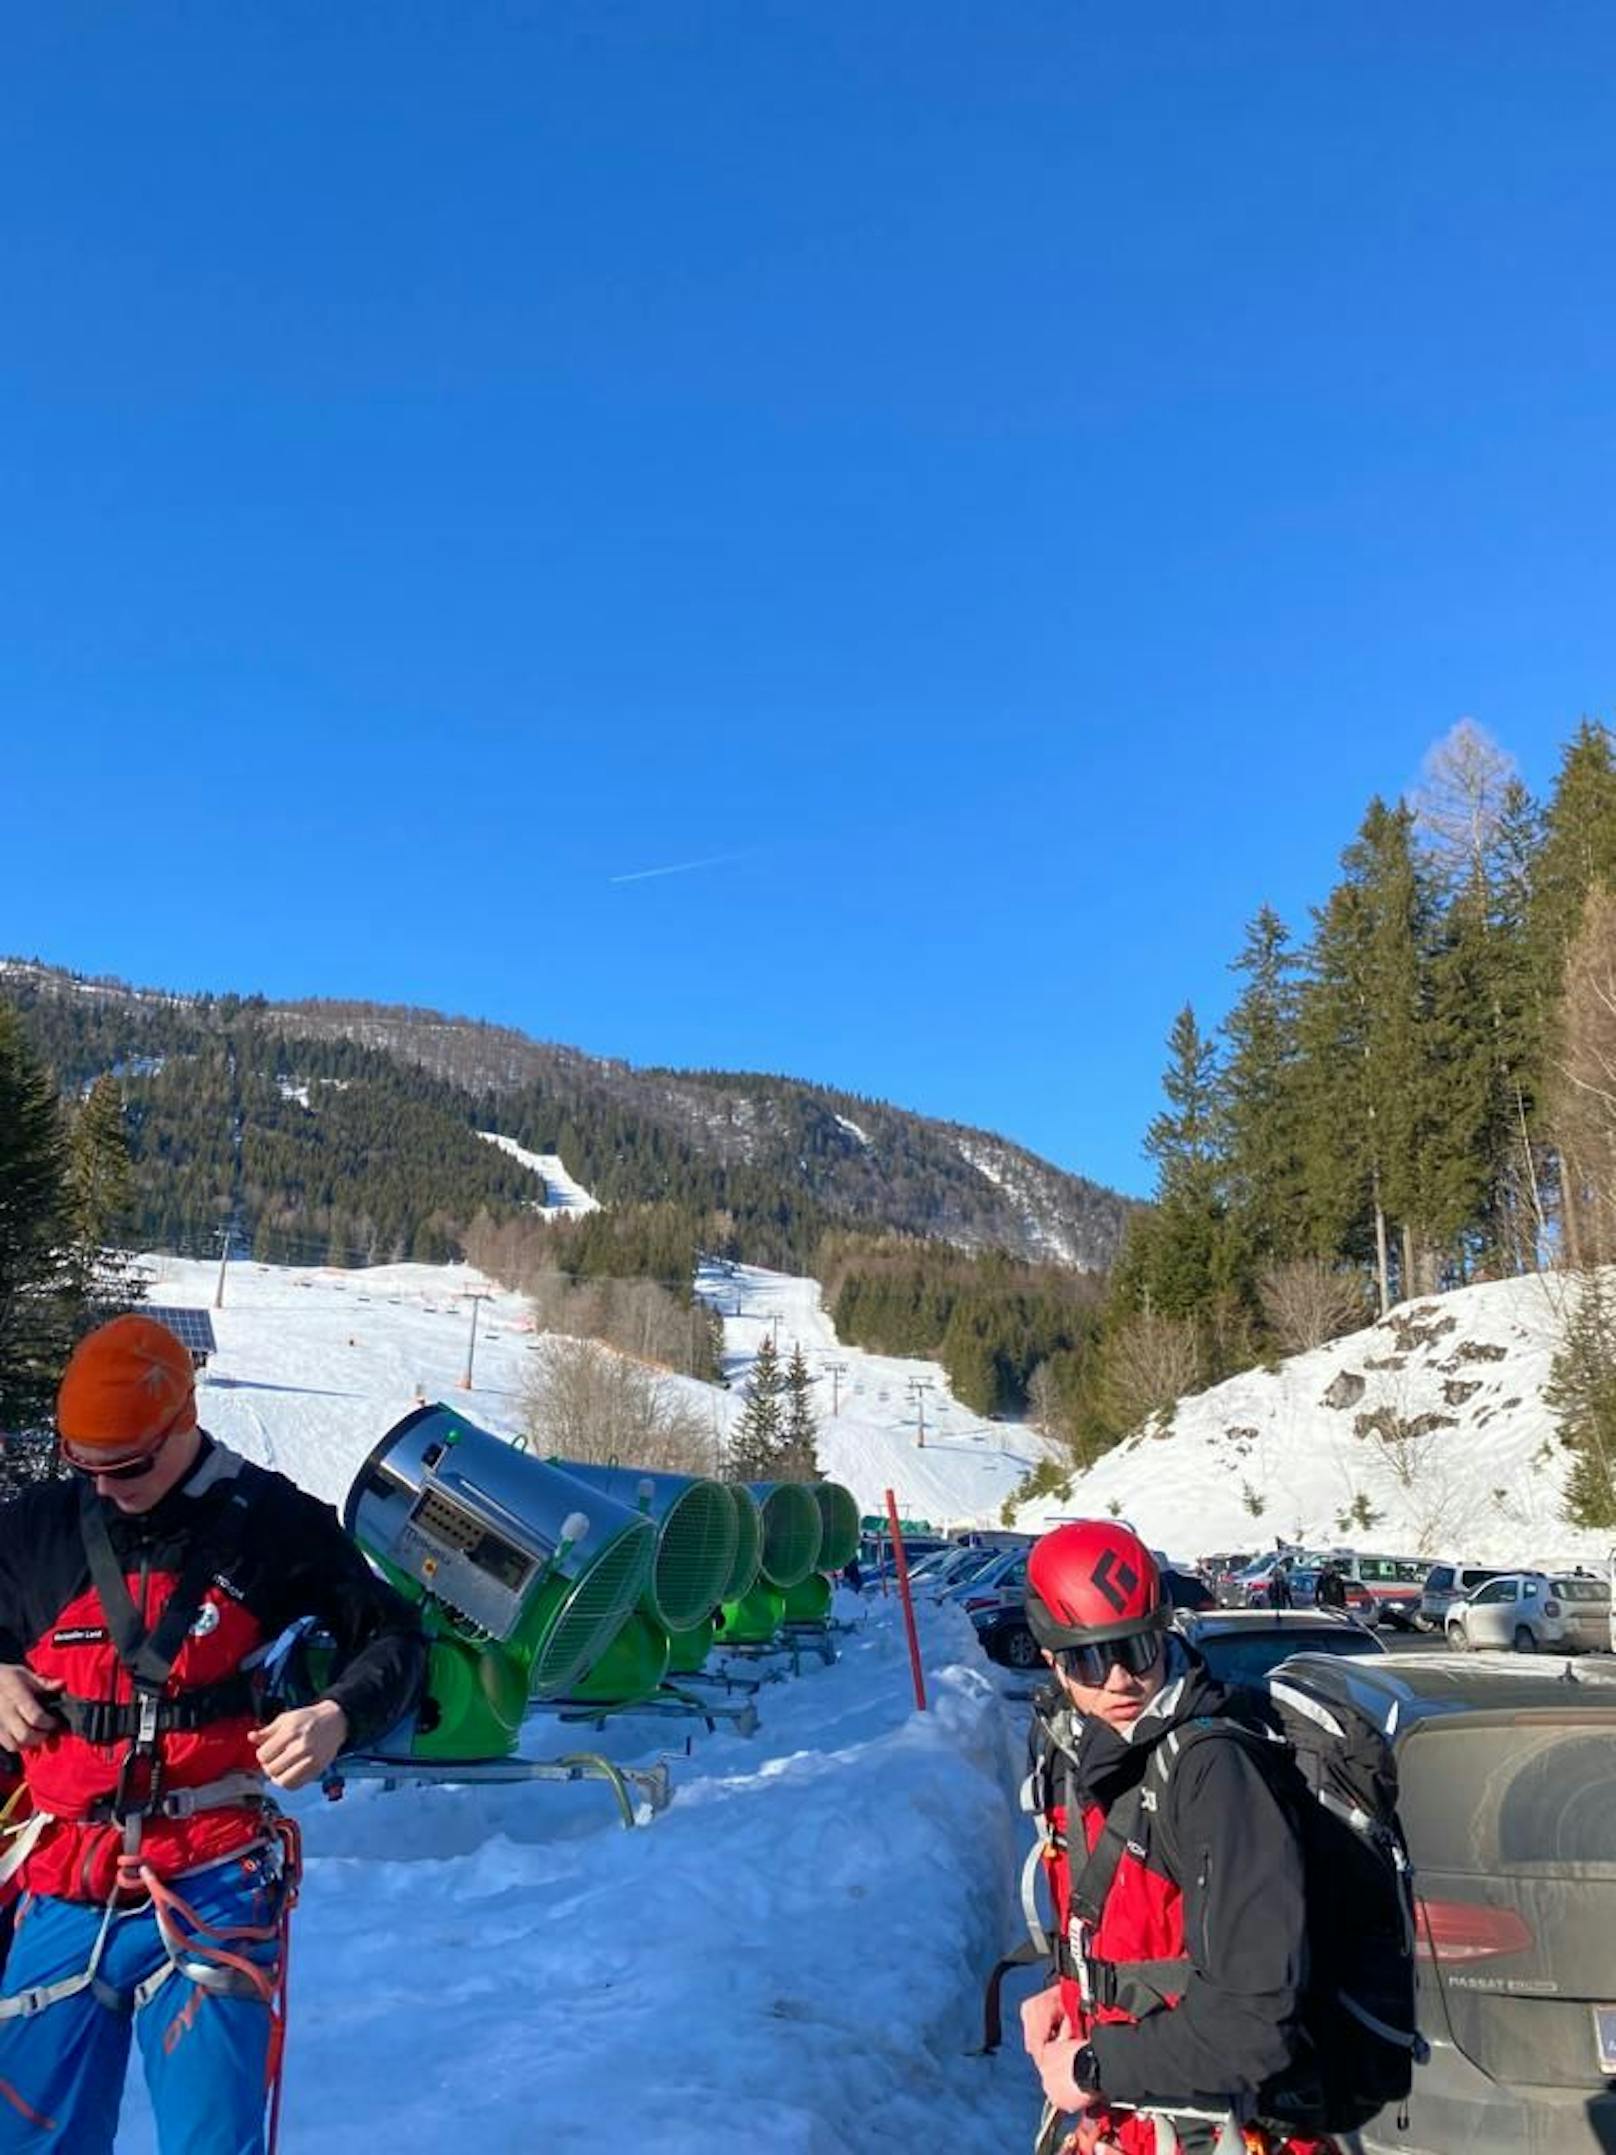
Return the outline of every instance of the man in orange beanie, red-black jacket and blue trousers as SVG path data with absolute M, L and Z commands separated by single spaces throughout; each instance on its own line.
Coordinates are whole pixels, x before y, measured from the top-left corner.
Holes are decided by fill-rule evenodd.
M 424 1646 L 336 1515 L 196 1422 L 149 1317 L 73 1351 L 71 1476 L 0 1511 L 0 1746 L 34 1817 L 0 1996 L 0 2155 L 110 2155 L 129 2036 L 164 2155 L 259 2155 L 299 1789 L 416 1700 Z M 250 1668 L 317 1618 L 338 1674 L 261 1724 Z

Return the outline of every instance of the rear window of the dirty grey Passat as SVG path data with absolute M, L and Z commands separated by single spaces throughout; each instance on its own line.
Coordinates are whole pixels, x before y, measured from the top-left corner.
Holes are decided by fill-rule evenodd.
M 1398 1756 L 1416 1871 L 1616 1871 L 1616 1713 L 1586 1722 L 1426 1724 Z

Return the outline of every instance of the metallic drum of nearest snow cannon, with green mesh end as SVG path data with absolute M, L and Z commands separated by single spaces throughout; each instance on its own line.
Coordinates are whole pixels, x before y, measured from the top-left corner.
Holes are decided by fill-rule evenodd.
M 343 1524 L 440 1629 L 498 1644 L 530 1698 L 556 1698 L 644 1593 L 651 1519 L 584 1489 L 452 1407 L 416 1407 L 360 1468 Z

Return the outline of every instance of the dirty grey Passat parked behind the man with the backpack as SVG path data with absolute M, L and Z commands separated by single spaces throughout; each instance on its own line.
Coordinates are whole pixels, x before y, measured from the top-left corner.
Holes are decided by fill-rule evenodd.
M 1485 1588 L 1482 1588 L 1485 1590 Z M 1530 1662 L 1308 1664 L 1396 1748 L 1431 2062 L 1370 2155 L 1616 2149 L 1616 1683 Z

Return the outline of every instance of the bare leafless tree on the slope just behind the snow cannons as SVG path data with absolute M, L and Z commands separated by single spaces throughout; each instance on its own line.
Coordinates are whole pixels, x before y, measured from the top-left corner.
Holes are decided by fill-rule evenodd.
M 683 1388 L 595 1340 L 541 1340 L 521 1403 L 528 1444 L 545 1457 L 659 1474 L 718 1470 L 711 1422 Z

